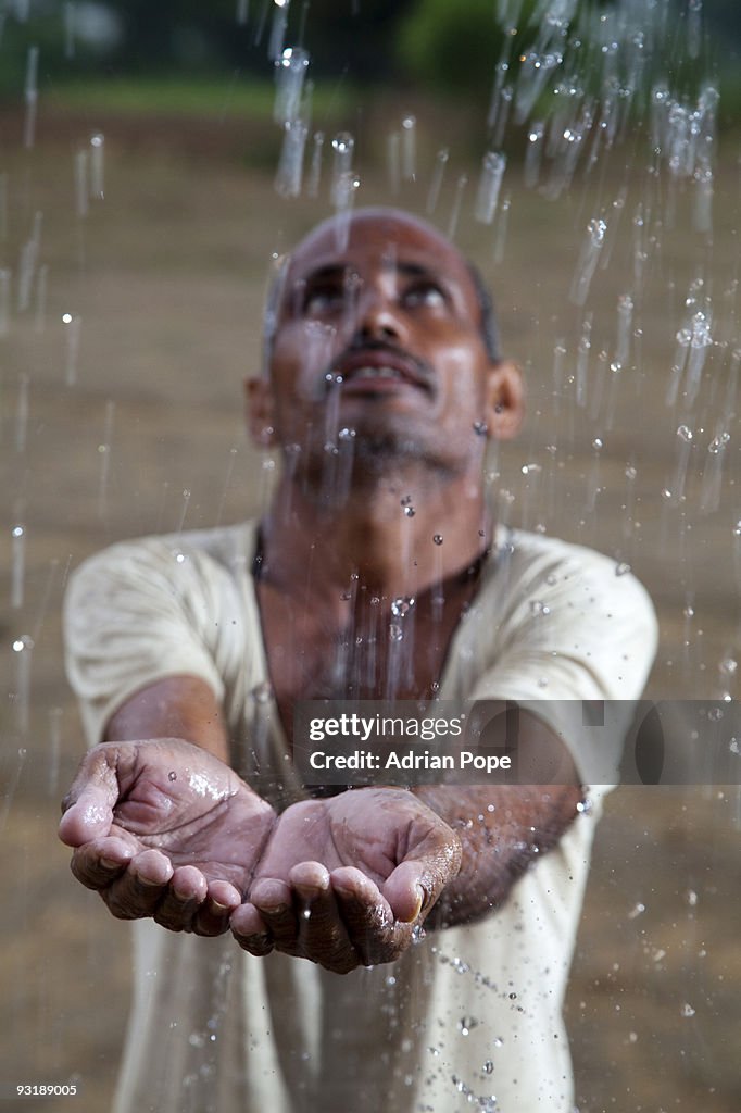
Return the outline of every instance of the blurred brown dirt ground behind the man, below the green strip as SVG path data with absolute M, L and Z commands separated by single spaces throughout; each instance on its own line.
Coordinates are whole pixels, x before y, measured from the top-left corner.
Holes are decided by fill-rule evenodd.
M 65 581 L 113 540 L 259 511 L 274 471 L 246 443 L 240 380 L 259 366 L 270 254 L 327 206 L 324 197 L 278 198 L 270 171 L 250 161 L 249 135 L 234 124 L 189 129 L 184 120 L 145 126 L 51 114 L 29 151 L 21 128 L 16 117 L 0 120 L 8 213 L 0 266 L 12 269 L 0 329 L 0 667 L 8 692 L 0 710 L 0 1083 L 75 1077 L 73 1107 L 99 1113 L 109 1106 L 127 1011 L 128 932 L 76 886 L 55 837 L 58 800 L 83 748 L 63 678 Z M 76 151 L 98 129 L 106 135 L 106 197 L 80 215 Z M 436 142 L 427 136 L 417 181 L 399 197 L 391 197 L 383 168 L 372 168 L 363 199 L 423 210 Z M 711 244 L 686 230 L 689 187 L 673 196 L 665 173 L 651 179 L 641 159 L 626 167 L 625 158 L 586 181 L 577 177 L 557 201 L 525 190 L 511 166 L 506 239 L 501 227 L 474 224 L 471 198 L 463 207 L 457 239 L 493 284 L 505 347 L 530 390 L 527 431 L 492 462 L 493 498 L 513 523 L 632 565 L 661 624 L 649 696 L 735 697 L 738 422 L 721 452 L 709 445 L 722 432 L 738 343 L 738 168 L 729 150 Z M 476 173 L 458 161 L 437 214 L 443 229 L 456 176 Z M 36 284 L 19 311 L 19 259 L 37 211 L 46 307 Z M 609 217 L 611 257 L 586 306 L 592 348 L 581 405 L 582 312 L 567 294 L 583 229 L 600 211 Z M 641 214 L 642 284 L 634 252 Z M 704 285 L 695 294 L 713 299 L 718 343 L 698 402 L 684 413 L 666 405 L 665 394 L 674 336 L 698 279 Z M 630 356 L 611 371 L 625 293 L 635 302 Z M 556 345 L 565 349 L 561 377 Z M 680 424 L 694 433 L 683 495 Z M 23 637 L 32 649 L 14 650 Z M 741 1106 L 740 830 L 738 787 L 613 794 L 569 997 L 582 1113 Z M 36 1105 L 27 1100 L 23 1107 Z

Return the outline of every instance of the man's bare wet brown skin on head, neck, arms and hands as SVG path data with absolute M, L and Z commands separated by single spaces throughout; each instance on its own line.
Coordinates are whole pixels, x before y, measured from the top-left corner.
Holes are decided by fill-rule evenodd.
M 485 440 L 514 435 L 522 417 L 516 370 L 492 364 L 481 324 L 464 260 L 404 214 L 362 211 L 344 244 L 336 224 L 320 226 L 289 263 L 269 376 L 247 386 L 256 440 L 287 457 L 257 590 L 288 737 L 297 699 L 346 695 L 357 672 L 352 658 L 339 678 L 316 662 L 348 636 L 367 643 L 377 610 L 388 621 L 398 597 L 418 600 L 419 648 L 395 695 L 434 690 L 477 585 L 462 573 L 491 536 Z M 325 443 L 339 429 L 354 450 L 342 491 L 326 482 Z M 442 610 L 432 605 L 441 579 Z M 365 698 L 387 693 L 386 651 L 382 639 Z M 134 696 L 107 738 L 116 746 L 91 751 L 66 801 L 61 836 L 80 880 L 115 915 L 201 934 L 230 923 L 253 954 L 278 949 L 337 973 L 395 958 L 428 916 L 444 925 L 491 910 L 527 865 L 510 848 L 554 845 L 580 797 L 574 774 L 549 794 L 360 789 L 276 816 L 226 768 L 220 708 L 187 677 Z M 210 786 L 197 798 L 182 790 L 194 768 Z

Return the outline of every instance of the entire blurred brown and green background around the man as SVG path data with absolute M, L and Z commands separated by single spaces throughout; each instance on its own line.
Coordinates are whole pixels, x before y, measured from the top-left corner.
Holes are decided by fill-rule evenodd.
M 127 927 L 56 839 L 66 580 L 259 513 L 241 381 L 316 219 L 402 205 L 476 260 L 528 386 L 500 520 L 646 584 L 649 698 L 737 699 L 740 40 L 732 0 L 0 0 L 0 1084 L 80 1085 L 26 1109 L 109 1106 L 128 1003 Z M 735 781 L 610 798 L 582 1113 L 741 1105 Z

